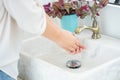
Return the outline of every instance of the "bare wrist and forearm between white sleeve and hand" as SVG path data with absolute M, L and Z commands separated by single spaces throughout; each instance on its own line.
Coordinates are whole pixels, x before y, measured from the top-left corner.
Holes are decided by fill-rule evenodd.
M 43 36 L 54 42 L 57 42 L 61 37 L 61 33 L 63 33 L 63 30 L 61 29 L 61 27 L 55 24 L 48 15 L 46 15 L 46 22 L 46 30 L 43 33 Z

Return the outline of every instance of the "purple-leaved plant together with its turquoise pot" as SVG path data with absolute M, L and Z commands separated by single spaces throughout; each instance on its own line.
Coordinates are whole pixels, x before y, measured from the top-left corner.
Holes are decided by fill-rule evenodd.
M 43 6 L 49 16 L 60 18 L 63 28 L 71 26 L 73 32 L 77 27 L 78 17 L 84 19 L 87 15 L 91 15 L 92 18 L 99 16 L 99 10 L 107 3 L 108 0 L 59 0 Z

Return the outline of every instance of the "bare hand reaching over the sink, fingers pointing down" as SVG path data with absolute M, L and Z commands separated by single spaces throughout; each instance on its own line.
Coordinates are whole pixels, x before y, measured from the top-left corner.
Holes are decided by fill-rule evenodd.
M 56 40 L 56 43 L 69 53 L 79 53 L 85 48 L 80 44 L 80 41 L 72 35 L 72 33 L 66 30 L 62 30 L 62 33 Z

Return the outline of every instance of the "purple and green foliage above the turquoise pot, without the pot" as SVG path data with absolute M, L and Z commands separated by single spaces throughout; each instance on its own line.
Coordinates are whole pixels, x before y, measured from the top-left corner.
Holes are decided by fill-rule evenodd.
M 76 14 L 80 18 L 85 18 L 91 13 L 92 16 L 99 16 L 99 10 L 105 7 L 108 0 L 93 0 L 94 4 L 90 5 L 88 0 L 58 0 L 58 2 L 43 5 L 45 12 L 52 17 L 62 18 L 64 15 Z

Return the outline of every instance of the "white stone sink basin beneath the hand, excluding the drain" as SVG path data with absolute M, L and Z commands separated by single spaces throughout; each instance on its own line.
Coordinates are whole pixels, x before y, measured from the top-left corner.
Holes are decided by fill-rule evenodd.
M 105 35 L 93 40 L 89 34 L 77 35 L 86 49 L 76 55 L 44 37 L 25 40 L 18 77 L 23 80 L 120 80 L 120 40 Z M 81 67 L 66 67 L 71 59 L 80 60 Z

